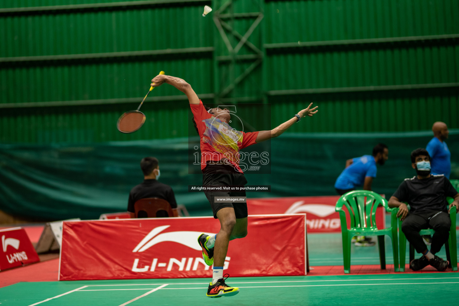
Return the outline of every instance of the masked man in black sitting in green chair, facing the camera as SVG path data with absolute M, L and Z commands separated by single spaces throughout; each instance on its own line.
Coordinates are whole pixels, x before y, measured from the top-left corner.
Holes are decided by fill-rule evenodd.
M 430 174 L 430 156 L 427 150 L 419 148 L 411 152 L 411 166 L 418 175 L 405 178 L 389 199 L 389 207 L 399 207 L 397 217 L 401 216 L 400 219 L 403 220 L 402 231 L 409 243 L 422 254 L 419 259 L 412 260 L 409 267 L 417 271 L 431 265 L 438 271 L 445 271 L 449 262 L 435 254 L 448 240 L 451 227 L 446 197 L 454 198 L 449 208 L 456 206 L 456 210 L 459 210 L 459 193 L 443 174 Z M 407 205 L 402 202 L 407 202 L 411 210 L 408 211 Z M 435 230 L 430 251 L 419 234 L 425 228 Z

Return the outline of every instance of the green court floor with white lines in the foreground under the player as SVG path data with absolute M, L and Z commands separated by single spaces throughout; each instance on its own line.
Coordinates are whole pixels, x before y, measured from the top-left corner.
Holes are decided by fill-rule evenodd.
M 207 279 L 18 283 L 1 306 L 458 305 L 458 273 L 229 278 L 241 292 L 210 299 Z

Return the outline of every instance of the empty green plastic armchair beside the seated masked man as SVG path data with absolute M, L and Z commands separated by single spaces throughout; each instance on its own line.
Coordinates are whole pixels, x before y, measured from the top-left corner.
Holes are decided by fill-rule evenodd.
M 351 228 L 347 229 L 346 206 L 351 217 Z M 391 227 L 378 229 L 376 227 L 376 208 L 383 206 L 391 212 Z M 335 210 L 340 213 L 341 234 L 343 244 L 344 273 L 350 273 L 351 269 L 351 240 L 354 236 L 378 236 L 379 259 L 381 269 L 386 269 L 386 253 L 384 235 L 392 239 L 394 256 L 394 270 L 398 272 L 398 241 L 397 241 L 397 210 L 389 208 L 387 200 L 377 193 L 369 190 L 349 191 L 336 202 Z

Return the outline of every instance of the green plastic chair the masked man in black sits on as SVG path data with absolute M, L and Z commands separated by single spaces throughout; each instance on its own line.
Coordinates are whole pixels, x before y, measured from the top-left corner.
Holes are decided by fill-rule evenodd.
M 453 202 L 453 198 L 448 197 L 448 204 Z M 398 211 L 398 207 L 397 207 Z M 449 238 L 445 243 L 446 250 L 446 259 L 449 261 L 448 267 L 452 268 L 453 271 L 458 270 L 458 255 L 457 255 L 457 242 L 456 242 L 456 207 L 451 207 L 449 214 L 451 218 L 451 228 L 449 230 Z M 398 218 L 398 234 L 399 234 L 399 250 L 400 250 L 400 272 L 405 272 L 405 257 L 406 257 L 406 237 L 402 232 L 402 222 Z M 432 235 L 435 233 L 433 229 L 421 229 L 419 234 L 421 235 Z M 411 262 L 414 259 L 414 246 L 409 244 L 409 261 Z

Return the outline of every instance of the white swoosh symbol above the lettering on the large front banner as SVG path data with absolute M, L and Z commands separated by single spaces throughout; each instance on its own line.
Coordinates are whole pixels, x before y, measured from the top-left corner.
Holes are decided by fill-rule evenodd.
M 153 228 L 150 233 L 148 233 L 142 241 L 132 250 L 132 252 L 143 252 L 148 250 L 153 245 L 156 245 L 160 242 L 177 242 L 181 245 L 186 245 L 193 250 L 201 250 L 201 247 L 196 242 L 197 237 L 202 234 L 202 232 L 192 232 L 192 231 L 177 231 L 177 232 L 168 232 L 161 233 L 170 225 L 158 226 Z M 158 235 L 159 234 L 159 235 Z M 207 235 L 215 235 L 215 233 L 204 233 Z

